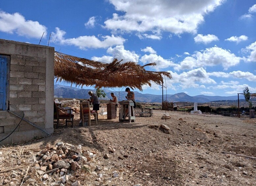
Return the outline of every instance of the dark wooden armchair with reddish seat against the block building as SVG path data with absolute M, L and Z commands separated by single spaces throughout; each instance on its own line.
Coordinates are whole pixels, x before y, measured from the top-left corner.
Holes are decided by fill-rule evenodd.
M 54 101 L 54 114 L 53 114 L 53 120 L 57 120 L 57 121 L 53 121 L 54 123 L 57 123 L 56 128 L 59 127 L 59 122 L 60 120 L 66 120 L 66 126 L 68 126 L 68 122 L 71 122 L 71 127 L 73 128 L 73 121 L 74 121 L 74 115 L 73 114 L 68 114 L 68 110 L 72 109 L 63 109 L 61 108 L 61 104 L 60 103 L 55 103 Z M 61 112 L 63 112 L 64 114 L 61 114 Z

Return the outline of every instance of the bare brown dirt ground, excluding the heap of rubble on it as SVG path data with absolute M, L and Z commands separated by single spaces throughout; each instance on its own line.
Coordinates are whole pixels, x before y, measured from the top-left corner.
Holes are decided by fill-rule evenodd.
M 91 127 L 79 127 L 76 114 L 74 128 L 58 128 L 51 136 L 26 144 L 2 146 L 0 156 L 8 157 L 13 149 L 36 154 L 46 145 L 63 142 L 95 151 L 102 167 L 122 173 L 122 178 L 100 185 L 256 185 L 256 158 L 222 153 L 256 157 L 256 119 L 169 111 L 171 119 L 165 121 L 161 120 L 163 113 L 154 110 L 152 117 L 136 117 L 134 123 L 106 120 L 104 115 L 99 116 L 97 126 Z M 160 124 L 167 125 L 170 133 L 149 127 Z M 28 164 L 10 157 L 2 159 L 0 171 Z M 0 173 L 0 185 L 10 174 Z M 23 177 L 19 178 L 16 185 Z M 85 176 L 76 180 L 81 185 L 96 183 Z

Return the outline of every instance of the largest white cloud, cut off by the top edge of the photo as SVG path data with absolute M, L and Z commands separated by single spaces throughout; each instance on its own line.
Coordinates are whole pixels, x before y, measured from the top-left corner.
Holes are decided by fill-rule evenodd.
M 105 27 L 111 30 L 147 32 L 160 29 L 181 34 L 196 33 L 204 15 L 213 12 L 223 0 L 166 1 L 166 0 L 109 0 L 122 15 L 113 14 Z M 153 7 L 153 8 L 152 8 Z

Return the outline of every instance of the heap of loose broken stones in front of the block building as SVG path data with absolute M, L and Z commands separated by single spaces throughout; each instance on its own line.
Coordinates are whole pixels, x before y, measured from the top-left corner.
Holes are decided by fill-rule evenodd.
M 96 163 L 96 156 L 94 151 L 82 150 L 81 145 L 76 147 L 58 142 L 55 146 L 46 146 L 37 153 L 35 166 L 29 172 L 36 172 L 43 182 L 49 183 L 49 180 L 52 180 L 52 184 L 61 185 L 70 183 L 82 170 L 94 175 L 95 181 L 99 184 L 102 182 L 102 177 L 109 183 L 112 179 L 120 179 L 118 171 L 108 175 L 106 172 L 109 169 L 102 168 L 99 161 Z M 59 180 L 58 183 L 54 182 L 51 176 L 55 176 L 54 179 Z M 80 185 L 80 183 L 74 182 L 72 185 Z

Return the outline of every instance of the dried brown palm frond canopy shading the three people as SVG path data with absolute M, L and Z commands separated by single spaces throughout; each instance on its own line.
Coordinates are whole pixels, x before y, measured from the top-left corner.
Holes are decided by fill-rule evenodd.
M 142 91 L 142 85 L 151 82 L 162 84 L 162 76 L 172 78 L 169 72 L 148 71 L 144 66 L 156 65 L 151 63 L 140 66 L 134 62 L 121 63 L 114 59 L 112 63 L 78 58 L 55 52 L 54 75 L 57 81 L 65 81 L 76 86 L 101 87 L 130 87 Z

